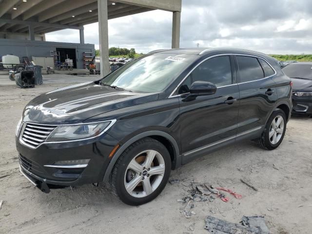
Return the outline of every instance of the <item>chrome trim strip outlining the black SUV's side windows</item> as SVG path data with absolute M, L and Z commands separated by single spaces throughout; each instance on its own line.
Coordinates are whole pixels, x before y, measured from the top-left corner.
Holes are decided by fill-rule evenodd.
M 204 51 L 203 51 L 204 52 Z M 202 52 L 201 52 L 202 53 Z M 213 56 L 210 56 L 206 59 L 203 59 L 202 61 L 200 61 L 198 64 L 196 64 L 196 66 L 181 80 L 181 82 L 176 86 L 176 88 L 174 89 L 174 91 L 169 95 L 168 98 L 175 98 L 175 97 L 178 97 L 178 96 L 181 96 L 181 95 L 184 95 L 184 94 L 176 94 L 174 95 L 174 93 L 176 92 L 177 88 L 183 83 L 183 81 L 188 78 L 188 76 L 190 76 L 190 74 L 200 65 L 202 64 L 204 61 L 208 60 L 208 59 L 212 59 L 212 58 L 215 58 L 215 57 L 220 57 L 220 56 L 231 56 L 231 55 L 234 55 L 234 56 L 247 56 L 247 57 L 254 57 L 254 58 L 258 58 L 258 59 L 263 59 L 266 63 L 269 64 L 269 66 L 273 69 L 274 71 L 274 74 L 271 75 L 271 76 L 268 76 L 268 77 L 264 77 L 264 78 L 261 78 L 261 79 L 255 79 L 255 80 L 250 80 L 250 81 L 245 81 L 245 82 L 240 82 L 240 83 L 235 83 L 235 84 L 229 84 L 229 85 L 223 85 L 223 86 L 219 86 L 217 87 L 218 88 L 223 88 L 223 87 L 228 87 L 228 86 L 232 86 L 232 85 L 238 85 L 238 84 L 245 84 L 245 83 L 249 83 L 249 82 L 254 82 L 254 81 L 258 81 L 258 80 L 262 80 L 262 79 L 267 79 L 267 78 L 270 78 L 270 77 L 273 77 L 277 74 L 276 70 L 273 68 L 273 66 L 270 64 L 270 62 L 268 62 L 267 59 L 264 59 L 262 57 L 259 57 L 259 56 L 255 56 L 255 55 L 246 55 L 246 54 L 234 54 L 234 53 L 230 53 L 230 54 L 217 54 L 217 55 L 213 55 Z M 261 64 L 259 64 L 261 66 Z M 262 66 L 261 66 L 262 68 Z M 185 93 L 185 94 L 188 94 L 188 93 Z

